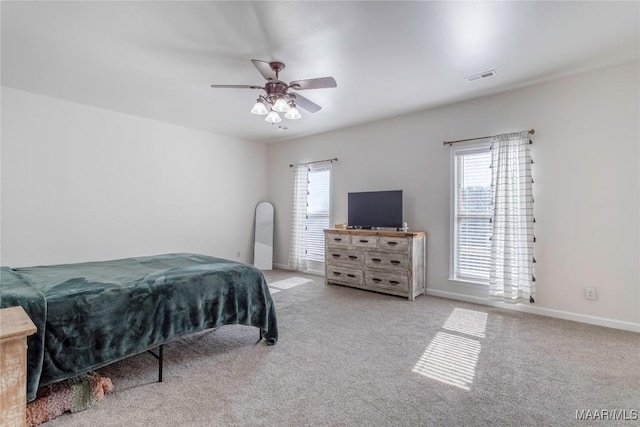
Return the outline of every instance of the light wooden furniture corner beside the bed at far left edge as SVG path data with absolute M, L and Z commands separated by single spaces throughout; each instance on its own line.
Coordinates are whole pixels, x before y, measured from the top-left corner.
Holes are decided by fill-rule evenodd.
M 27 336 L 36 326 L 22 307 L 0 309 L 0 425 L 27 422 Z

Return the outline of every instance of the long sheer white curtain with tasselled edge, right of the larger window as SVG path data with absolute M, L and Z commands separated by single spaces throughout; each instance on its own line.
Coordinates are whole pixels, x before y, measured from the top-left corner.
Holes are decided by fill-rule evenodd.
M 491 140 L 493 232 L 489 297 L 529 303 L 535 296 L 533 276 L 533 192 L 528 132 Z

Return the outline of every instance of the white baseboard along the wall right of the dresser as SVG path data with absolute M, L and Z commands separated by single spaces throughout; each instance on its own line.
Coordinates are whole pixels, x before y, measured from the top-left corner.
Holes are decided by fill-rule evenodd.
M 551 308 L 536 307 L 534 305 L 507 304 L 498 301 L 487 300 L 482 297 L 463 295 L 455 292 L 427 289 L 427 295 L 440 298 L 454 299 L 458 301 L 472 302 L 488 305 L 506 310 L 522 311 L 524 313 L 538 314 L 540 316 L 555 317 L 558 319 L 572 320 L 574 322 L 588 323 L 590 325 L 604 326 L 607 328 L 621 329 L 623 331 L 640 332 L 640 323 L 625 322 L 622 320 L 607 319 L 604 317 L 589 316 L 586 314 L 571 313 L 568 311 L 554 310 Z

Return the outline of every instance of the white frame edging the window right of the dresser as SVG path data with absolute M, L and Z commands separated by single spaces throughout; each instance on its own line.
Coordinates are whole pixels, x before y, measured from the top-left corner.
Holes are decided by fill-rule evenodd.
M 450 154 L 449 154 L 449 201 L 450 201 L 450 212 L 449 212 L 449 281 L 454 282 L 456 284 L 462 285 L 470 285 L 470 286 L 481 286 L 488 287 L 489 286 L 489 278 L 486 280 L 468 277 L 468 276 L 457 276 L 456 275 L 456 266 L 457 266 L 457 239 L 458 239 L 458 162 L 457 156 L 462 154 L 477 154 L 491 152 L 491 142 L 490 141 L 480 141 L 480 142 L 465 142 L 465 143 L 456 143 L 455 145 L 451 145 Z

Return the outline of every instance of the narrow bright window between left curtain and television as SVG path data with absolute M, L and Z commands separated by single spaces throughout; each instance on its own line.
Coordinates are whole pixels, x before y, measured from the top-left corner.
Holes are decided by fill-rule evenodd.
M 324 229 L 329 228 L 331 208 L 331 163 L 309 165 L 307 195 L 307 261 L 324 262 Z M 320 269 L 307 263 L 310 270 Z

